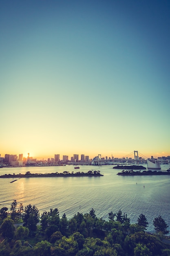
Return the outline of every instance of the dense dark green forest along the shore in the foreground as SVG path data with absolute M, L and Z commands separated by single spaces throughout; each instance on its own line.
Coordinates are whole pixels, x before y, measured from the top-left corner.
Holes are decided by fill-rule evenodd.
M 146 232 L 144 214 L 131 224 L 121 210 L 108 220 L 89 213 L 67 219 L 57 208 L 41 215 L 35 205 L 17 204 L 0 209 L 1 256 L 170 256 L 168 225 L 161 216 L 153 220 L 155 234 Z

